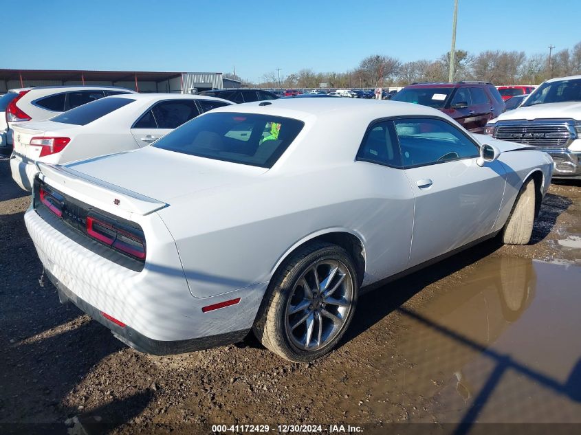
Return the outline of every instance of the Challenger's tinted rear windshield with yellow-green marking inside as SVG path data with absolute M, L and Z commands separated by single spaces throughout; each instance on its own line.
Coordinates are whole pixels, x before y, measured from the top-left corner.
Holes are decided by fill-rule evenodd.
M 155 148 L 271 168 L 303 122 L 252 113 L 208 113 L 157 140 Z

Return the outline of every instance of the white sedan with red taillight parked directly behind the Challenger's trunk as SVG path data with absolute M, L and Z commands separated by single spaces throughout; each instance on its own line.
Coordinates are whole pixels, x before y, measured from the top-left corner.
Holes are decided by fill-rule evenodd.
M 227 100 L 168 93 L 130 93 L 101 98 L 50 120 L 13 124 L 12 178 L 32 190 L 39 162 L 63 164 L 151 144 L 200 113 Z

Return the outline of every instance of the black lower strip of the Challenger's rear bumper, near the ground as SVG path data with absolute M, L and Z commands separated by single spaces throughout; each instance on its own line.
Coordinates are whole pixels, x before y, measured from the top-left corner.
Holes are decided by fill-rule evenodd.
M 100 310 L 79 298 L 47 269 L 45 269 L 45 274 L 58 290 L 58 297 L 63 304 L 72 302 L 78 309 L 87 313 L 103 326 L 109 328 L 111 333 L 121 342 L 143 353 L 150 353 L 151 355 L 174 355 L 177 353 L 194 352 L 196 350 L 204 350 L 239 342 L 250 332 L 250 328 L 248 328 L 242 331 L 232 331 L 230 333 L 193 339 L 173 341 L 151 339 L 135 331 L 131 326 L 120 326 L 115 322 L 111 322 L 111 320 L 103 317 Z

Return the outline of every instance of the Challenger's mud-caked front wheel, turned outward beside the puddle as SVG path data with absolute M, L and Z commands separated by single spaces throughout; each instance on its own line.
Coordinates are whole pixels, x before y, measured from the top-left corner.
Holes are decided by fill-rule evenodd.
M 518 192 L 504 227 L 503 243 L 526 245 L 531 240 L 535 219 L 535 183 L 529 179 Z

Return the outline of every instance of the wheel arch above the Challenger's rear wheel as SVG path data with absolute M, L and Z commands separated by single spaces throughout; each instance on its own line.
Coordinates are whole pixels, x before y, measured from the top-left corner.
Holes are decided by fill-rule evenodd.
M 338 245 L 345 249 L 349 256 L 351 256 L 353 259 L 355 270 L 357 271 L 358 283 L 361 285 L 363 282 L 366 265 L 365 245 L 363 238 L 360 234 L 341 227 L 319 230 L 309 234 L 308 236 L 305 236 L 304 238 L 301 238 L 299 241 L 296 241 L 296 243 L 289 247 L 286 252 L 280 258 L 278 258 L 276 264 L 274 267 L 272 267 L 270 279 L 276 275 L 276 271 L 278 271 L 278 269 L 285 263 L 285 260 L 292 256 L 294 252 L 304 247 L 305 245 L 316 241 L 333 243 L 333 245 Z

